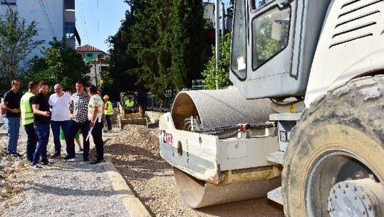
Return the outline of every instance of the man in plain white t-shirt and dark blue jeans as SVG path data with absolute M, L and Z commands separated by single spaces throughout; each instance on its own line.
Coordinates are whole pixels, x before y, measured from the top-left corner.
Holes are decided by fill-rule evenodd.
M 55 93 L 49 97 L 51 106 L 51 128 L 53 134 L 53 143 L 55 144 L 55 154 L 52 159 L 61 156 L 60 127 L 63 129 L 66 144 L 68 145 L 68 134 L 71 128 L 71 118 L 68 112 L 71 95 L 63 91 L 60 84 L 55 85 Z

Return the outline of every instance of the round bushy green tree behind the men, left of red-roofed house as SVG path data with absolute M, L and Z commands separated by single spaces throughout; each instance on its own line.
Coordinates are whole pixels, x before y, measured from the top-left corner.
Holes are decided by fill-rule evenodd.
M 43 58 L 36 56 L 31 60 L 25 80 L 44 80 L 49 83 L 51 89 L 53 85 L 60 83 L 65 90 L 73 90 L 77 80 L 89 80 L 85 75 L 89 72 L 89 66 L 85 65 L 80 54 L 66 46 L 64 38 L 61 41 L 53 38 L 49 45 L 51 47 L 42 51 Z

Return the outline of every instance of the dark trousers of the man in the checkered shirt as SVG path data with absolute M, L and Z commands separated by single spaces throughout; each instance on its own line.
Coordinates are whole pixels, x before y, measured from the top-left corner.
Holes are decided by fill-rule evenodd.
M 71 128 L 69 130 L 68 145 L 66 148 L 68 156 L 71 156 L 71 157 L 76 156 L 75 136 L 76 136 L 76 132 L 78 132 L 78 129 L 80 129 L 81 134 L 83 134 L 83 158 L 88 159 L 89 139 L 88 141 L 85 141 L 85 139 L 88 137 L 89 125 L 90 125 L 90 121 L 88 120 L 86 120 L 85 122 L 76 122 L 74 120 L 71 120 Z

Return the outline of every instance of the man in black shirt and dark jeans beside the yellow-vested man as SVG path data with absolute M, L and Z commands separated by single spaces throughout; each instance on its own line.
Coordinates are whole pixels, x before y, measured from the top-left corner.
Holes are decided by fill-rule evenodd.
M 33 154 L 33 162 L 31 167 L 33 169 L 41 169 L 42 166 L 38 165 L 38 160 L 41 157 L 41 164 L 53 164 L 48 162 L 47 158 L 47 145 L 49 139 L 49 125 L 51 123 L 51 113 L 49 112 L 48 103 L 48 83 L 41 82 L 39 85 L 39 92 L 31 97 L 31 105 L 33 110 L 33 127 L 35 128 L 38 136 L 38 143 Z

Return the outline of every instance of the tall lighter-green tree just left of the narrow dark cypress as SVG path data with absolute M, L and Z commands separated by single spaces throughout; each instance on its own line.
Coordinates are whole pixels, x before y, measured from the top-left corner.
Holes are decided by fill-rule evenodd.
M 172 21 L 170 0 L 137 0 L 135 24 L 130 28 L 130 40 L 127 53 L 132 55 L 139 66 L 128 70 L 137 77 L 137 84 L 155 95 L 174 88 L 170 67 L 172 55 L 170 45 Z

